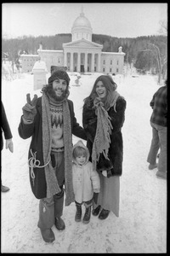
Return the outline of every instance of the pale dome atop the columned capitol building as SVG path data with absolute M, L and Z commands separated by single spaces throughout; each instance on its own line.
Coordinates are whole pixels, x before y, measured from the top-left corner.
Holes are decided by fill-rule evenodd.
M 82 38 L 92 41 L 92 27 L 88 18 L 85 17 L 83 12 L 74 21 L 71 34 L 72 41 L 77 41 Z

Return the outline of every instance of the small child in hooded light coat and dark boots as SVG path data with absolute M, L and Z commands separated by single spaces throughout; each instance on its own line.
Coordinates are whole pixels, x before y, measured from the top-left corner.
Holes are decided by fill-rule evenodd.
M 75 221 L 81 221 L 82 204 L 84 204 L 86 211 L 82 222 L 88 224 L 91 217 L 94 194 L 99 193 L 100 189 L 99 174 L 93 169 L 93 165 L 89 161 L 88 148 L 82 141 L 78 141 L 74 145 L 72 159 L 72 181 L 77 207 Z

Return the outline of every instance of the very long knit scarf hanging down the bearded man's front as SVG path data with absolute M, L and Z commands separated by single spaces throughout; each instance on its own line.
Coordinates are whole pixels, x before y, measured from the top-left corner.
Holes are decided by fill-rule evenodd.
M 65 99 L 63 102 L 63 137 L 65 146 L 65 206 L 74 201 L 73 187 L 72 187 L 72 137 L 71 137 L 71 116 L 68 102 Z M 48 162 L 51 153 L 51 117 L 49 110 L 48 96 L 42 94 L 42 150 L 44 164 Z M 45 177 L 47 183 L 47 197 L 51 197 L 60 192 L 59 183 L 55 176 L 54 168 L 51 161 L 45 169 Z

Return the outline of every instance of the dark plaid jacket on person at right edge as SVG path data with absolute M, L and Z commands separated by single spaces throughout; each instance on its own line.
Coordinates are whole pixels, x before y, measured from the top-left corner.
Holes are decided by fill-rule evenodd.
M 167 85 L 156 91 L 150 102 L 150 107 L 153 108 L 150 122 L 167 126 Z

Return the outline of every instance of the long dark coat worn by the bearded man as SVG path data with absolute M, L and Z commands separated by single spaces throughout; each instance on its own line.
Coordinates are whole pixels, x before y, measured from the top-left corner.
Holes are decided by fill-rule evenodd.
M 84 140 L 87 139 L 85 131 L 82 127 L 77 123 L 77 119 L 74 113 L 73 102 L 67 100 L 69 104 L 70 114 L 71 114 L 71 132 L 77 137 L 80 137 Z M 21 117 L 20 125 L 18 128 L 20 137 L 23 139 L 27 139 L 31 137 L 31 145 L 28 154 L 28 159 L 31 158 L 31 151 L 36 152 L 36 159 L 40 161 L 40 166 L 44 165 L 43 162 L 43 153 L 42 153 L 42 97 L 37 99 L 37 114 L 34 118 L 34 122 L 32 124 L 24 124 L 24 121 Z M 31 190 L 37 199 L 42 199 L 47 196 L 47 184 L 45 178 L 45 170 L 44 168 L 34 168 L 34 184 L 32 183 L 31 178 L 31 168 L 30 168 L 30 183 Z

